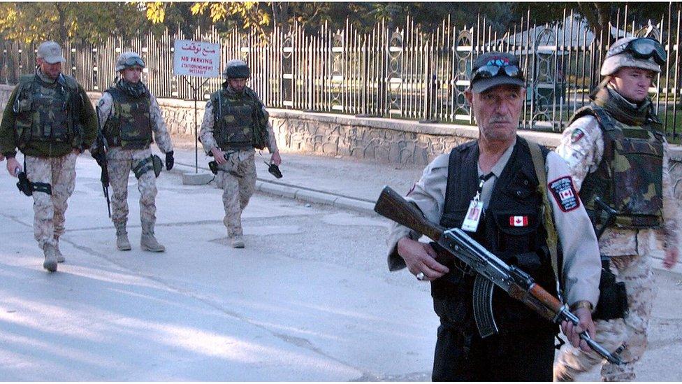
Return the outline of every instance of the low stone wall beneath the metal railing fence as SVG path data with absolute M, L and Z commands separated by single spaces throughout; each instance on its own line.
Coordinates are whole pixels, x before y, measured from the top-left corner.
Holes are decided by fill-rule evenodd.
M 0 107 L 4 108 L 13 87 L 0 85 Z M 93 104 L 101 96 L 88 92 Z M 161 113 L 174 138 L 194 139 L 194 101 L 159 99 Z M 203 120 L 204 101 L 198 101 L 198 125 Z M 449 148 L 478 136 L 476 127 L 421 124 L 409 120 L 356 118 L 350 115 L 268 109 L 277 144 L 282 151 L 324 156 L 354 157 L 386 164 L 423 166 Z M 521 136 L 555 147 L 558 134 L 520 131 Z M 671 171 L 676 197 L 682 197 L 682 148 L 671 151 Z

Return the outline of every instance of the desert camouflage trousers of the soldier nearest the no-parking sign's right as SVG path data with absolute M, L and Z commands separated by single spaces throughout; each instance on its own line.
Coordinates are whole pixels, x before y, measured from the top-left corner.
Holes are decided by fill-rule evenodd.
M 223 190 L 223 205 L 228 236 L 242 235 L 242 211 L 256 190 L 256 160 L 253 150 L 233 152 L 225 164 L 218 166 L 218 187 Z

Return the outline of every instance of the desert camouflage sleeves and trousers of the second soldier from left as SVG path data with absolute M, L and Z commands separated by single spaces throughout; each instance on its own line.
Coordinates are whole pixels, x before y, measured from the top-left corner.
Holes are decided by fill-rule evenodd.
M 99 99 L 99 118 L 102 127 L 105 127 L 113 108 L 113 98 L 109 92 L 104 92 Z M 161 152 L 167 153 L 173 150 L 173 143 L 170 141 L 166 122 L 161 116 L 161 108 L 157 98 L 150 95 L 150 120 L 154 141 Z M 111 220 L 117 230 L 125 229 L 128 221 L 128 177 L 135 166 L 143 159 L 152 156 L 149 146 L 143 149 L 123 149 L 121 147 L 109 148 L 107 152 L 107 169 L 109 171 L 111 196 Z M 154 223 L 157 220 L 157 206 L 154 202 L 157 196 L 157 185 L 154 171 L 150 169 L 138 180 L 138 191 L 140 191 L 140 221 L 142 222 L 143 232 L 152 232 Z M 147 231 L 145 231 L 145 229 Z

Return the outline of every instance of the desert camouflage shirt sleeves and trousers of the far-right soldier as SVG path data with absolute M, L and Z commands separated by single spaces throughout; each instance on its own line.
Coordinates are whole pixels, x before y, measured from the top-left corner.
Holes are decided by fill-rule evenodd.
M 588 173 L 597 169 L 604 153 L 602 130 L 591 115 L 577 119 L 563 133 L 556 152 L 563 157 L 572 172 L 574 183 L 580 189 Z M 621 344 L 623 363 L 620 366 L 604 361 L 603 381 L 632 381 L 634 363 L 646 350 L 646 330 L 655 297 L 651 258 L 653 253 L 667 246 L 677 246 L 677 203 L 673 196 L 669 173 L 669 151 L 663 143 L 663 229 L 623 229 L 609 227 L 602 234 L 599 246 L 604 256 L 611 257 L 611 271 L 616 280 L 625 282 L 628 313 L 625 319 L 597 320 L 595 339 L 607 350 L 616 350 Z M 574 378 L 602 362 L 596 353 L 583 351 L 565 344 L 555 367 L 557 378 Z

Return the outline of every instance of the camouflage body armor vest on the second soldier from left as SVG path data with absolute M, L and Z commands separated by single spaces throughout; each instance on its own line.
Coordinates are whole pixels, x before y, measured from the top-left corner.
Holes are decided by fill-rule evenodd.
M 104 136 L 109 145 L 126 150 L 148 148 L 153 140 L 150 96 L 131 97 L 116 87 L 106 92 L 114 101 L 112 113 L 104 125 Z

